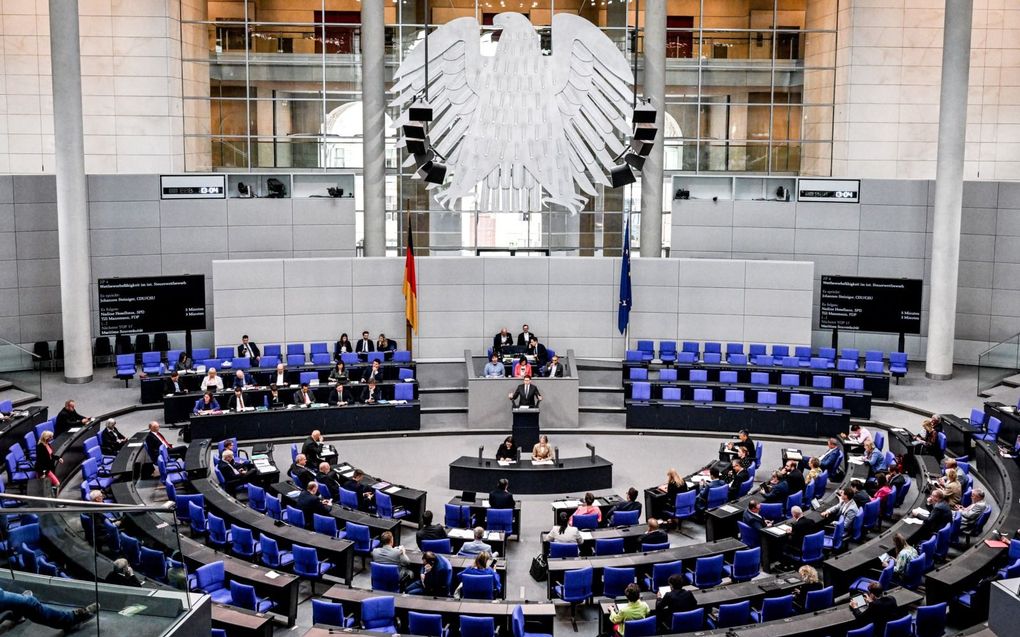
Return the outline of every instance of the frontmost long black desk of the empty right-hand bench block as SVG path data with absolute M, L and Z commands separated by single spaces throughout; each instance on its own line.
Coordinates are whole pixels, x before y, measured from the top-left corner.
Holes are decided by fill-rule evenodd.
M 759 434 L 828 438 L 850 428 L 848 410 L 751 403 L 626 401 L 628 429 L 724 431 L 748 429 Z

